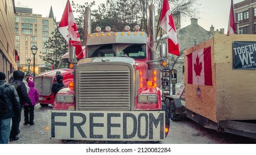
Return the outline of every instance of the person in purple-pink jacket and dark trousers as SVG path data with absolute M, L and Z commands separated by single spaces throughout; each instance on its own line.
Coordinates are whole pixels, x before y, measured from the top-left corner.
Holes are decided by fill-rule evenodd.
M 28 92 L 29 99 L 32 102 L 32 105 L 29 105 L 27 103 L 24 104 L 24 123 L 23 125 L 34 125 L 34 108 L 35 104 L 37 104 L 37 101 L 39 99 L 39 94 L 37 89 L 35 89 L 34 81 L 28 80 L 28 86 L 30 88 Z

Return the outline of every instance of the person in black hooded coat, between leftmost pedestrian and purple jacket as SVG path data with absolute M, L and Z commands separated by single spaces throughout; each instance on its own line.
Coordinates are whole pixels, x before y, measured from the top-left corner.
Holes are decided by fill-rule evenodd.
M 27 102 L 29 105 L 32 105 L 31 100 L 28 97 L 27 88 L 23 82 L 24 72 L 16 70 L 13 72 L 13 81 L 10 83 L 15 87 L 19 95 L 19 102 L 21 106 Z M 10 135 L 10 141 L 17 141 L 19 137 L 17 136 L 19 133 L 19 122 L 21 122 L 21 111 L 14 113 L 14 117 L 12 117 L 12 129 Z

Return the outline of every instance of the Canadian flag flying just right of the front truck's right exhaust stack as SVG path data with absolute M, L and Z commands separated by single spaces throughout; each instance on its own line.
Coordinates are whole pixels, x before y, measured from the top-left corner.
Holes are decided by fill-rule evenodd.
M 180 56 L 177 32 L 172 18 L 168 0 L 163 0 L 160 27 L 165 30 L 168 38 L 168 53 Z

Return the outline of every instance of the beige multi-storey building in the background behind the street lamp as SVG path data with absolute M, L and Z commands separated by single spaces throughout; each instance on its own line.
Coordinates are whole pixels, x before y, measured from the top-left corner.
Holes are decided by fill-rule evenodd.
M 42 17 L 42 14 L 33 14 L 32 8 L 16 7 L 14 33 L 16 40 L 16 50 L 19 55 L 18 69 L 24 72 L 28 71 L 28 59 L 31 60 L 30 71 L 33 72 L 34 55 L 30 48 L 37 46 L 35 54 L 35 75 L 45 71 L 45 62 L 43 61 L 43 52 L 49 51 L 45 42 L 52 37 L 52 32 L 57 28 L 53 16 L 52 7 L 49 17 Z

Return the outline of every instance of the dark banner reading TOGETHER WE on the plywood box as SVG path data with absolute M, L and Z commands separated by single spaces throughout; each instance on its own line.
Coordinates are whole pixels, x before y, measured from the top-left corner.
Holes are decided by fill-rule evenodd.
M 256 69 L 256 42 L 233 42 L 233 69 Z

